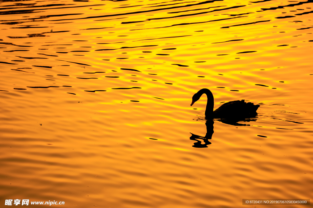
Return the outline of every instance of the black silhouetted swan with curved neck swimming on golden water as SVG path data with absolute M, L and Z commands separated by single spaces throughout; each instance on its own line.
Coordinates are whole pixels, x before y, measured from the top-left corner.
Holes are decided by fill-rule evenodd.
M 256 110 L 260 105 L 254 105 L 253 103 L 246 103 L 244 100 L 235 100 L 224 103 L 218 109 L 213 111 L 214 98 L 213 94 L 209 89 L 200 89 L 196 94 L 192 96 L 192 106 L 201 95 L 206 94 L 208 97 L 207 107 L 205 109 L 206 119 L 245 119 L 252 118 L 257 115 Z

